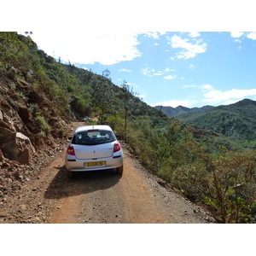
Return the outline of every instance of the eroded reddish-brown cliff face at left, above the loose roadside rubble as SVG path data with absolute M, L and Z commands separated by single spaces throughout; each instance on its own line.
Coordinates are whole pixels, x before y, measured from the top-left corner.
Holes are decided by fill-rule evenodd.
M 67 119 L 54 102 L 14 72 L 0 73 L 0 167 L 7 159 L 30 165 L 67 133 Z

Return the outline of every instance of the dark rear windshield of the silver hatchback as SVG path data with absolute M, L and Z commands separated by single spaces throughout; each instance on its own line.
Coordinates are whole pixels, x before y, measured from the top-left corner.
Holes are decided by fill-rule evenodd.
M 81 131 L 74 134 L 72 143 L 78 145 L 99 145 L 113 143 L 115 140 L 112 131 Z

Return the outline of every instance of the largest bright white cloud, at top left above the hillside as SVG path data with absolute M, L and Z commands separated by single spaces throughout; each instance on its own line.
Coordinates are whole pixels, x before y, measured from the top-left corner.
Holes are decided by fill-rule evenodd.
M 47 35 L 47 36 L 46 36 Z M 33 32 L 33 41 L 48 55 L 79 64 L 111 65 L 131 61 L 142 53 L 137 49 L 137 33 Z

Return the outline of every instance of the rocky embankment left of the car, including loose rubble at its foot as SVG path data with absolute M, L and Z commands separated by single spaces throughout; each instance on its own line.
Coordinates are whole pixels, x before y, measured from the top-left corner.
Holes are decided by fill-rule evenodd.
M 54 103 L 17 73 L 0 73 L 0 205 L 61 150 L 69 129 Z

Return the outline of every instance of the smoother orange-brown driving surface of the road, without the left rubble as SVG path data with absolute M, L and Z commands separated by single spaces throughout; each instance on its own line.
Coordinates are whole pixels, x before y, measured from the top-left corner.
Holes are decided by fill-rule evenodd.
M 125 150 L 123 176 L 114 170 L 79 173 L 58 186 L 58 172 L 46 198 L 57 199 L 50 223 L 207 223 L 199 207 L 163 188 Z M 56 188 L 57 187 L 57 188 Z

